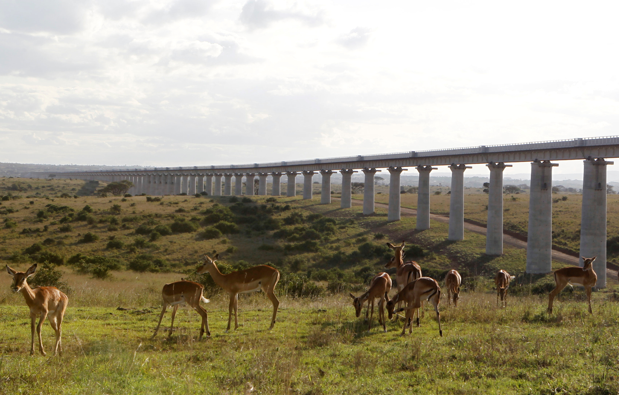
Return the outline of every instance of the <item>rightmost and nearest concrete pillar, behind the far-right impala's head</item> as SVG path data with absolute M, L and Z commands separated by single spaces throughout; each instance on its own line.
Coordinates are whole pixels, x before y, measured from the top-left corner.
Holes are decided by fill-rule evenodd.
M 582 177 L 581 245 L 582 257 L 593 258 L 596 288 L 606 287 L 606 165 L 614 162 L 587 159 Z

